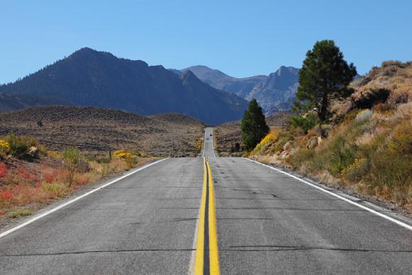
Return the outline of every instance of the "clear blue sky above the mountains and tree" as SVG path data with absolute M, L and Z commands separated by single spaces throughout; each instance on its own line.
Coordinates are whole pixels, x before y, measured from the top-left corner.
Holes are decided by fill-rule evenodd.
M 412 1 L 0 0 L 0 83 L 88 46 L 149 65 L 207 65 L 235 77 L 300 67 L 333 39 L 364 74 L 412 60 Z

